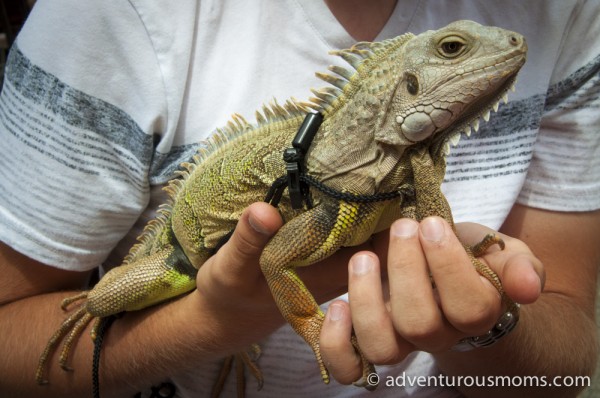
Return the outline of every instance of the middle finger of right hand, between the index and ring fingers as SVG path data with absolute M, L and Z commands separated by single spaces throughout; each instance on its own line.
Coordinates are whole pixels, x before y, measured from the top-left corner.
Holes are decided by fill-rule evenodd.
M 462 334 L 442 316 L 418 236 L 419 224 L 400 219 L 390 228 L 388 276 L 392 321 L 396 331 L 423 351 L 438 352 Z

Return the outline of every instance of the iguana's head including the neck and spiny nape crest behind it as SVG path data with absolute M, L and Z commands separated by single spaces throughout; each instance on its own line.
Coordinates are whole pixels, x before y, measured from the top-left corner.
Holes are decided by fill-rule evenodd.
M 370 124 L 373 139 L 381 144 L 426 142 L 442 148 L 461 132 L 477 130 L 479 118 L 487 120 L 490 110 L 506 100 L 526 52 L 518 33 L 472 21 L 359 43 L 336 52 L 356 72 L 332 67 L 339 77 L 319 75 L 341 89 L 339 96 L 321 91 L 317 100 L 325 103 L 326 112 L 352 103 L 351 117 L 358 125 Z M 352 101 L 343 100 L 350 96 Z

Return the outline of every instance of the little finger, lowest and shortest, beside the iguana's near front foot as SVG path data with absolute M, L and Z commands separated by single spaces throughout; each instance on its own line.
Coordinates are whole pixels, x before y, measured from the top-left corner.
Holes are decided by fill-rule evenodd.
M 350 384 L 362 375 L 361 360 L 350 342 L 351 336 L 350 307 L 346 302 L 334 301 L 327 309 L 319 346 L 325 366 L 341 384 Z

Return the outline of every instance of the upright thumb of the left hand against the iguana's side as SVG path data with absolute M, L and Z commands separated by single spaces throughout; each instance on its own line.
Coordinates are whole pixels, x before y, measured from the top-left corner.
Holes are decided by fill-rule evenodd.
M 210 272 L 212 283 L 227 288 L 252 286 L 253 280 L 262 277 L 258 266 L 260 255 L 282 224 L 279 212 L 273 206 L 267 203 L 250 205 L 242 213 L 231 238 L 200 267 L 199 274 Z

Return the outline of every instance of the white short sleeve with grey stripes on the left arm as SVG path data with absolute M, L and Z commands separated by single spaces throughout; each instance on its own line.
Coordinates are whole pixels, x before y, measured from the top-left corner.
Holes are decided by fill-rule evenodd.
M 0 240 L 63 269 L 101 264 L 148 202 L 163 90 L 129 2 L 38 1 L 0 95 Z

